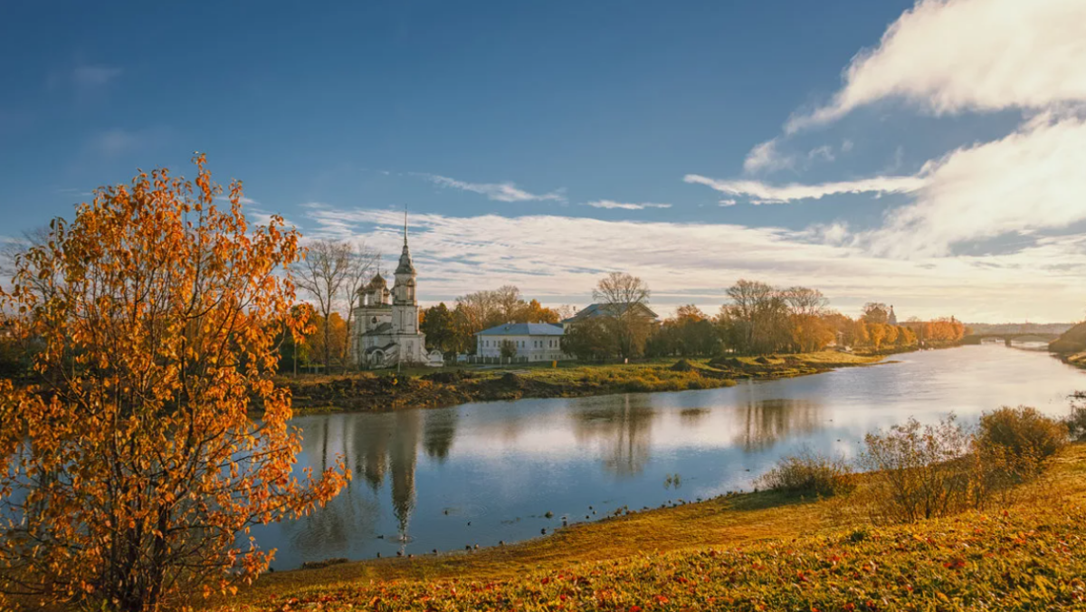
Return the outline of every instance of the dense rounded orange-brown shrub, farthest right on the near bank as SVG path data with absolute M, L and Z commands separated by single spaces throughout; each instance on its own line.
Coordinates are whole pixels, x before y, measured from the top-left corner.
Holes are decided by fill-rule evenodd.
M 1012 461 L 1041 463 L 1068 440 L 1068 428 L 1030 407 L 1003 407 L 981 416 L 977 445 Z

